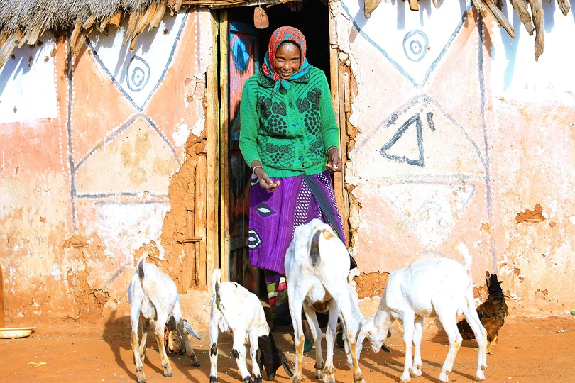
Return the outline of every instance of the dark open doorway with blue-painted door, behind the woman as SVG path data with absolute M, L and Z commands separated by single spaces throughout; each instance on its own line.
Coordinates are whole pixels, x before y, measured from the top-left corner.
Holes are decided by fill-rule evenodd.
M 243 161 L 238 146 L 239 137 L 239 94 L 243 82 L 253 71 L 261 67 L 268 49 L 268 41 L 273 31 L 280 26 L 294 26 L 302 31 L 307 42 L 307 61 L 324 70 L 330 78 L 329 68 L 329 12 L 327 3 L 319 0 L 296 1 L 290 4 L 278 4 L 264 8 L 270 25 L 265 29 L 253 26 L 253 6 L 228 9 L 226 21 L 227 33 L 220 36 L 220 50 L 227 49 L 229 60 L 226 65 L 227 76 L 224 79 L 228 110 L 224 116 L 224 130 L 227 132 L 228 167 L 226 181 L 228 199 L 229 231 L 229 279 L 239 282 L 251 292 L 267 301 L 263 273 L 251 266 L 248 252 L 249 227 L 249 183 L 251 170 Z M 224 35 L 226 38 L 223 38 Z M 235 60 L 235 61 L 234 61 Z

